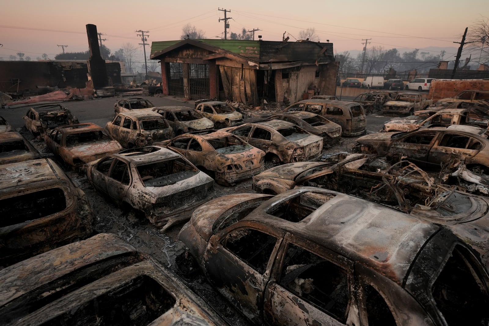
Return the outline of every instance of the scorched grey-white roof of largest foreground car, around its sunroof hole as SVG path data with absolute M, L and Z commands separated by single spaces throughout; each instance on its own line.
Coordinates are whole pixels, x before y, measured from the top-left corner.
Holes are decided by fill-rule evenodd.
M 271 205 L 298 193 L 332 194 L 333 197 L 301 222 L 266 213 Z M 241 221 L 255 221 L 332 249 L 358 261 L 399 284 L 424 243 L 440 227 L 377 203 L 322 188 L 300 187 L 279 194 Z

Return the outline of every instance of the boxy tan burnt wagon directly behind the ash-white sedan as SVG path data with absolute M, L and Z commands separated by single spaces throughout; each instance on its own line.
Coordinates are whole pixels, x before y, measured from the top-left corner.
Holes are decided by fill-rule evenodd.
M 105 129 L 125 148 L 143 147 L 173 138 L 172 127 L 161 115 L 149 110 L 117 113 Z

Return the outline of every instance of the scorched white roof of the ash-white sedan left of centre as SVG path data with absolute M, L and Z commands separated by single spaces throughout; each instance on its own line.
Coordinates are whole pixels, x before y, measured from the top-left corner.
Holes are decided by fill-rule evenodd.
M 178 158 L 180 155 L 172 150 L 161 146 L 146 146 L 143 148 L 132 148 L 110 156 L 117 157 L 122 161 L 132 163 L 133 165 L 147 164 L 157 161 L 166 161 L 173 158 Z

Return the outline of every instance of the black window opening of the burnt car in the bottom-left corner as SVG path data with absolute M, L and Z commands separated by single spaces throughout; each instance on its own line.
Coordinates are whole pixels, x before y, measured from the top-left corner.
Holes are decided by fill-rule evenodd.
M 49 320 L 50 325 L 143 326 L 170 310 L 175 298 L 147 275 L 136 277 L 75 310 Z

